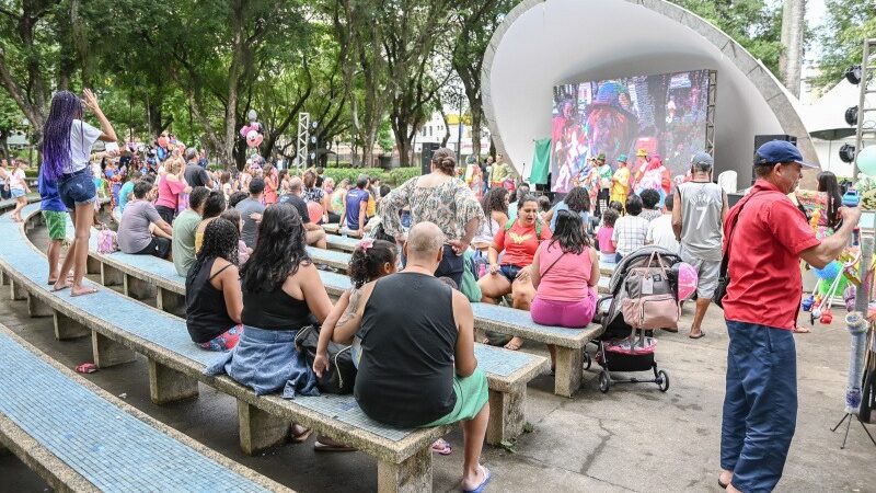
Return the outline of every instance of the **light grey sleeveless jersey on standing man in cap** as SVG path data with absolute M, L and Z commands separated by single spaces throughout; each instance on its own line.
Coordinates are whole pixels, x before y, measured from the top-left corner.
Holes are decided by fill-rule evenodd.
M 714 183 L 688 182 L 681 192 L 681 248 L 706 261 L 719 261 L 722 239 L 721 209 L 724 191 Z

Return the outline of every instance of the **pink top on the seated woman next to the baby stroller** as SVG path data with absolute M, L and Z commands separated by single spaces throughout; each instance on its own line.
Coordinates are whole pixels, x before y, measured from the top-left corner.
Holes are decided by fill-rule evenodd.
M 562 259 L 560 257 L 562 255 Z M 557 260 L 560 259 L 560 260 Z M 554 264 L 556 261 L 556 264 Z M 551 264 L 554 264 L 551 267 Z M 585 299 L 590 287 L 590 273 L 593 263 L 590 259 L 590 248 L 585 248 L 579 254 L 566 253 L 560 248 L 560 242 L 542 241 L 539 245 L 539 274 L 541 283 L 535 293 L 541 299 L 551 301 L 580 301 Z M 550 267 L 550 271 L 548 268 Z M 545 275 L 548 271 L 548 275 Z

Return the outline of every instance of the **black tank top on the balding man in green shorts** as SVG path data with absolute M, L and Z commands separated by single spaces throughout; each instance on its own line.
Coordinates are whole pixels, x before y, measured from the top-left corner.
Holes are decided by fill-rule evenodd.
M 372 420 L 420 426 L 453 410 L 457 322 L 452 290 L 434 276 L 377 282 L 365 307 L 355 395 Z

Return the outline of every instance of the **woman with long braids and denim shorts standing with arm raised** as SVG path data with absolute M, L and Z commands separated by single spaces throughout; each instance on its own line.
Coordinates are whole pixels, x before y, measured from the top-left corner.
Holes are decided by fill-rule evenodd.
M 76 228 L 76 237 L 67 250 L 58 280 L 53 290 L 70 288 L 70 296 L 96 293 L 96 288 L 82 286 L 85 276 L 85 262 L 89 257 L 89 237 L 94 215 L 94 199 L 97 192 L 91 176 L 89 159 L 95 141 L 115 142 L 113 125 L 106 119 L 97 104 L 97 98 L 85 89 L 84 99 L 70 91 L 58 91 L 51 98 L 51 108 L 43 126 L 43 165 L 46 179 L 57 182 L 61 200 L 70 213 Z M 94 113 L 101 123 L 97 129 L 82 122 L 82 105 Z M 73 270 L 73 283 L 68 284 L 67 275 Z

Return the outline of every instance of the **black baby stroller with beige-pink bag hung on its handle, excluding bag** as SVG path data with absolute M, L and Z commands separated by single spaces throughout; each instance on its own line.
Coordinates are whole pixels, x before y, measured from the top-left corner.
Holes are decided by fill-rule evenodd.
M 602 367 L 599 374 L 599 390 L 608 392 L 612 383 L 657 383 L 660 391 L 669 390 L 669 375 L 659 368 L 654 360 L 657 340 L 652 330 L 634 329 L 626 323 L 623 316 L 623 301 L 630 297 L 627 277 L 636 267 L 664 267 L 668 279 L 654 277 L 655 289 L 669 291 L 675 309 L 678 309 L 678 276 L 675 265 L 681 263 L 678 254 L 661 246 L 645 246 L 623 257 L 614 268 L 614 274 L 609 283 L 611 296 L 602 298 L 597 303 L 597 317 L 602 324 L 602 335 L 596 344 L 598 346 L 596 362 Z M 668 283 L 667 283 L 668 282 Z M 668 286 L 668 287 L 667 287 Z M 667 301 L 669 297 L 667 296 Z M 589 367 L 589 358 L 586 366 Z M 653 371 L 654 379 L 618 378 L 612 377 L 612 371 L 635 372 Z

